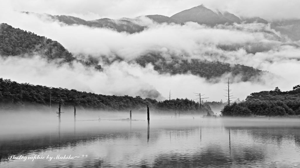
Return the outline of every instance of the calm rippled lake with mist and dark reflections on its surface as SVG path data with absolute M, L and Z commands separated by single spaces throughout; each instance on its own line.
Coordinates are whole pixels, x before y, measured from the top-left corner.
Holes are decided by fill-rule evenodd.
M 0 167 L 300 167 L 300 118 L 194 117 L 1 116 Z

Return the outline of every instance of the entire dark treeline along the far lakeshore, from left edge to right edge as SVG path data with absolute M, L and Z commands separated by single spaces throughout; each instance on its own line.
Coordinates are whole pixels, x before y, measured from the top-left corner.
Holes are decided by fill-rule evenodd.
M 0 109 L 22 110 L 32 107 L 49 109 L 58 106 L 59 98 L 65 107 L 76 106 L 86 110 L 145 111 L 148 105 L 153 112 L 180 112 L 182 114 L 213 114 L 211 108 L 224 106 L 221 117 L 287 116 L 300 115 L 300 85 L 291 91 L 251 93 L 246 100 L 228 104 L 223 102 L 200 103 L 187 98 L 157 101 L 140 96 L 103 95 L 75 89 L 54 88 L 29 83 L 17 83 L 0 78 Z M 231 100 L 230 100 L 231 101 Z M 51 102 L 51 103 L 50 103 Z

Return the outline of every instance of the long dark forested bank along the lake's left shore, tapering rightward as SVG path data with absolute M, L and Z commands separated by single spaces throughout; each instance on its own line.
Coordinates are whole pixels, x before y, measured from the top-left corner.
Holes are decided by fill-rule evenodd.
M 50 95 L 52 105 L 58 105 L 59 98 L 64 106 L 76 105 L 78 108 L 106 111 L 144 111 L 150 106 L 156 112 L 185 112 L 199 114 L 199 103 L 185 99 L 172 99 L 157 101 L 140 96 L 131 97 L 128 95 L 102 95 L 76 91 L 75 89 L 53 88 L 29 83 L 17 83 L 8 79 L 0 78 L 0 109 L 26 109 L 28 106 L 49 107 Z M 65 103 L 65 104 L 64 104 Z M 208 105 L 202 104 L 202 113 L 213 113 Z

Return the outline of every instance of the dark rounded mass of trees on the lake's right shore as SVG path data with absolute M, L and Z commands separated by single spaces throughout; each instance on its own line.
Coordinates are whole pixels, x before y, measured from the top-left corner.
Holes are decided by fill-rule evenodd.
M 300 85 L 291 91 L 273 91 L 251 93 L 246 101 L 227 104 L 221 111 L 222 116 L 284 116 L 300 115 Z

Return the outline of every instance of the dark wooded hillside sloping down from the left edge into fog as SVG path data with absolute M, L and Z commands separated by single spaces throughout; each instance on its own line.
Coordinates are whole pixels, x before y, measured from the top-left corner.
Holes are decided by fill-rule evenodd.
M 38 36 L 30 31 L 13 28 L 6 23 L 0 24 L 0 55 L 1 56 L 32 56 L 38 54 L 48 60 L 62 59 L 63 62 L 74 60 L 87 66 L 101 69 L 98 62 L 83 61 L 73 57 L 59 42 Z

